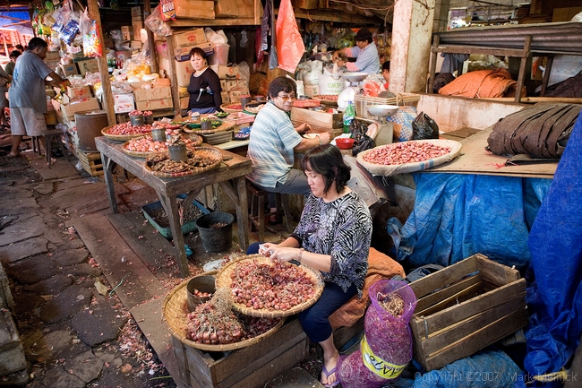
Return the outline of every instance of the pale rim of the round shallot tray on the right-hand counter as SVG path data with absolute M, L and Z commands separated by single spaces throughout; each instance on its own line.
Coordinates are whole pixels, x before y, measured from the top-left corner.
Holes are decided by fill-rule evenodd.
M 415 171 L 421 171 L 426 168 L 432 168 L 436 166 L 440 166 L 443 163 L 446 163 L 450 160 L 453 160 L 458 157 L 458 154 L 461 152 L 461 148 L 463 144 L 460 142 L 456 142 L 454 140 L 446 140 L 446 139 L 427 139 L 427 140 L 412 140 L 410 142 L 431 142 L 432 144 L 439 145 L 441 147 L 449 147 L 449 153 L 445 155 L 441 155 L 438 158 L 432 158 L 429 160 L 417 161 L 415 163 L 405 163 L 405 164 L 392 164 L 392 165 L 383 165 L 383 164 L 376 164 L 371 163 L 369 161 L 364 160 L 364 156 L 370 153 L 373 150 L 377 150 L 379 148 L 392 148 L 396 144 L 400 143 L 389 143 L 386 145 L 381 145 L 379 147 L 372 148 L 372 150 L 362 151 L 357 154 L 355 159 L 357 162 L 362 165 L 365 169 L 368 170 L 373 175 L 379 175 L 384 177 L 389 177 L 398 174 L 408 174 Z

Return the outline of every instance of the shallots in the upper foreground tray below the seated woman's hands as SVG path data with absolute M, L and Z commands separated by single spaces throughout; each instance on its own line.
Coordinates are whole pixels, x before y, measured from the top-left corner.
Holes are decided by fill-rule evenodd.
M 286 311 L 315 294 L 312 278 L 298 265 L 256 260 L 233 265 L 230 287 L 239 305 L 254 310 Z

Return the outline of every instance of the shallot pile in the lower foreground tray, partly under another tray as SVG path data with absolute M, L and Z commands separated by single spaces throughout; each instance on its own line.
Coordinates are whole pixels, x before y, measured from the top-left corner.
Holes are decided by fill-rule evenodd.
M 210 301 L 188 314 L 186 335 L 206 345 L 226 345 L 255 338 L 270 331 L 280 318 L 255 318 L 232 311 L 230 291 L 218 289 Z

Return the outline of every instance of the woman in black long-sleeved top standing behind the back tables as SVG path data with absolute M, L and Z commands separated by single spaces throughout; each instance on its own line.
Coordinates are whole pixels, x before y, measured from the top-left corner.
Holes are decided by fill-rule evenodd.
M 191 113 L 214 113 L 220 110 L 222 96 L 220 95 L 220 79 L 217 73 L 208 67 L 206 53 L 201 47 L 190 50 L 190 64 L 194 71 L 190 76 L 188 93 L 188 110 Z

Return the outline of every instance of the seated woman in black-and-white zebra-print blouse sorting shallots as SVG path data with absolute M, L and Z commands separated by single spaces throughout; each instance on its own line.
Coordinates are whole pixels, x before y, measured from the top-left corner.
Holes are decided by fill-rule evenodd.
M 323 349 L 321 384 L 338 385 L 339 352 L 333 343 L 330 315 L 358 294 L 368 271 L 372 217 L 349 187 L 350 168 L 331 144 L 308 151 L 301 167 L 312 194 L 305 201 L 295 232 L 280 244 L 249 246 L 247 254 L 264 254 L 274 263 L 295 260 L 319 270 L 325 281 L 321 297 L 299 314 L 310 341 Z

